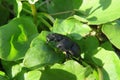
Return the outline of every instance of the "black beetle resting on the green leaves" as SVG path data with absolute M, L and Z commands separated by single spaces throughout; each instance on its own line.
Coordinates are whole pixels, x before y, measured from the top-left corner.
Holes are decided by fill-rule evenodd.
M 50 33 L 47 35 L 47 42 L 51 41 L 56 42 L 56 47 L 66 52 L 67 57 L 80 57 L 80 47 L 69 37 L 58 33 Z

